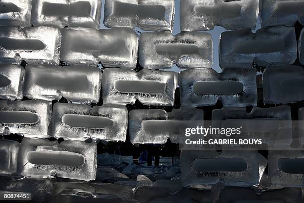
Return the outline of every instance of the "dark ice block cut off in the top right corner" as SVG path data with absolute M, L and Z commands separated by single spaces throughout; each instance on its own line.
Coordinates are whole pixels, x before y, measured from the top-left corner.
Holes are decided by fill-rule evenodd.
M 260 0 L 262 27 L 304 25 L 303 0 Z

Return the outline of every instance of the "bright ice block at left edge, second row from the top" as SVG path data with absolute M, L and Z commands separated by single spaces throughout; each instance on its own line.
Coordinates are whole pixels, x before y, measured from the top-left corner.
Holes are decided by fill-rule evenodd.
M 54 27 L 0 27 L 0 63 L 59 63 L 61 34 Z

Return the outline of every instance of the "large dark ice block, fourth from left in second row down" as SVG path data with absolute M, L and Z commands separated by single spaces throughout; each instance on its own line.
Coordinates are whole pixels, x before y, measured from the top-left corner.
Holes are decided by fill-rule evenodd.
M 297 59 L 297 40 L 294 27 L 262 28 L 223 32 L 220 39 L 221 68 L 250 68 L 289 65 Z

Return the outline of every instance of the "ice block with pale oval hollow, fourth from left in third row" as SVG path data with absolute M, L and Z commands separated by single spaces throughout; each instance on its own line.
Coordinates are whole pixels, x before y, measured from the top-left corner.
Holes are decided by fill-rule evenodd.
M 256 73 L 252 69 L 189 69 L 179 73 L 182 106 L 256 106 Z

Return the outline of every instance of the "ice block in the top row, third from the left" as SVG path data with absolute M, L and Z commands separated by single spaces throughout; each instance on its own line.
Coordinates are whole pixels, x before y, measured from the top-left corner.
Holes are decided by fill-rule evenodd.
M 174 0 L 106 0 L 103 23 L 113 27 L 172 30 Z

